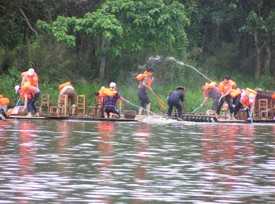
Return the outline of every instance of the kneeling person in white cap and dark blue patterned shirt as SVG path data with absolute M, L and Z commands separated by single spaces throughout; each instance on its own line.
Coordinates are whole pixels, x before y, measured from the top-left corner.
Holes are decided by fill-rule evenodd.
M 116 88 L 117 88 L 116 83 L 111 82 L 109 90 L 114 93 L 114 96 L 113 97 L 105 96 L 104 118 L 113 118 L 113 117 L 120 118 L 120 113 L 115 107 L 118 99 L 130 104 L 128 100 L 120 96 L 120 94 L 116 91 Z

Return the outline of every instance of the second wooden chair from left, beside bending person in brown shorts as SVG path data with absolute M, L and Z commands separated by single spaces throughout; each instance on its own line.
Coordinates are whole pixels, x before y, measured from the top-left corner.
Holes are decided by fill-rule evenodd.
M 68 95 L 60 94 L 58 96 L 58 106 L 50 107 L 51 116 L 67 116 L 68 112 Z

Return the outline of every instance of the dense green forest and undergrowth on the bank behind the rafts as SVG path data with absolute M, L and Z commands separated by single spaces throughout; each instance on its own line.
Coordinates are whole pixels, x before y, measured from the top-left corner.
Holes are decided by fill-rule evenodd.
M 1 1 L 0 94 L 16 98 L 14 86 L 29 68 L 45 89 L 71 81 L 92 84 L 93 92 L 114 81 L 134 90 L 135 76 L 148 67 L 155 69 L 155 88 L 192 91 L 208 82 L 178 62 L 212 81 L 228 74 L 240 88 L 274 90 L 274 6 L 272 0 Z

